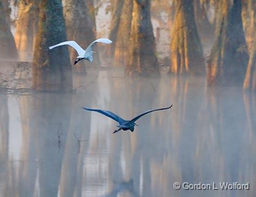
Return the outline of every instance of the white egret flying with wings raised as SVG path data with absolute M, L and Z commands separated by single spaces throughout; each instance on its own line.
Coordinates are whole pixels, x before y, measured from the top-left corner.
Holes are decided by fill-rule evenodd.
M 92 62 L 92 60 L 93 60 L 92 55 L 93 55 L 93 53 L 95 53 L 95 52 L 92 51 L 92 47 L 97 42 L 102 42 L 102 43 L 105 43 L 105 44 L 111 44 L 112 43 L 112 41 L 109 40 L 109 39 L 101 38 L 101 39 L 97 39 L 97 40 L 93 41 L 92 43 L 90 43 L 90 45 L 86 48 L 86 50 L 84 50 L 75 41 L 66 41 L 66 42 L 60 42 L 57 45 L 53 45 L 53 46 L 49 47 L 49 49 L 51 50 L 55 47 L 59 47 L 59 46 L 63 46 L 63 45 L 69 45 L 69 46 L 73 47 L 74 49 L 76 49 L 76 51 L 78 53 L 78 56 L 77 56 L 78 60 L 74 61 L 74 65 L 75 65 L 77 62 L 79 62 L 80 60 L 84 60 L 84 59 Z

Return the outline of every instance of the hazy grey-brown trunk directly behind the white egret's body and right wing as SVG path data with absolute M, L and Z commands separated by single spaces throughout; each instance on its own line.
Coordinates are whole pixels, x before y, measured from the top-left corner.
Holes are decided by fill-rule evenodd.
M 92 21 L 93 17 L 90 15 L 87 2 L 88 1 L 65 0 L 64 7 L 67 40 L 76 41 L 84 49 L 86 49 L 86 47 L 88 47 L 91 42 L 96 40 L 95 30 L 93 30 L 95 28 L 95 22 Z M 93 50 L 97 52 L 97 46 L 95 46 Z M 70 51 L 70 58 L 73 62 L 76 60 L 78 55 L 76 50 L 71 48 Z M 79 62 L 74 66 L 74 70 L 78 72 L 84 72 L 85 63 L 89 62 Z M 99 65 L 98 53 L 93 55 L 93 65 Z

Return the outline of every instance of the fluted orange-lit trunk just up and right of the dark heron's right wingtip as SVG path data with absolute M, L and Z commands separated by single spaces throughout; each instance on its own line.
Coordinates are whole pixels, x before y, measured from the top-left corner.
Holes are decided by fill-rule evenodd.
M 198 35 L 193 0 L 176 1 L 171 33 L 171 66 L 175 74 L 204 74 L 203 49 Z

